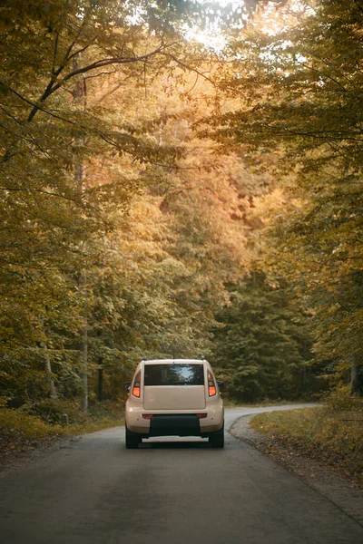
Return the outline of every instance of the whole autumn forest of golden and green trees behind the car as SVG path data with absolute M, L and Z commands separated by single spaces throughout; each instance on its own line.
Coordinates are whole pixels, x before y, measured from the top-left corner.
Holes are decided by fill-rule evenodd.
M 4 0 L 0 406 L 363 394 L 363 2 Z

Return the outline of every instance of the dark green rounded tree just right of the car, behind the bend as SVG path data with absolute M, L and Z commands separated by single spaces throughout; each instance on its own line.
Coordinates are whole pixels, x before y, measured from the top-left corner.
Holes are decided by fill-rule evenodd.
M 298 398 L 311 387 L 309 320 L 285 282 L 253 272 L 230 286 L 216 318 L 212 356 L 232 398 Z

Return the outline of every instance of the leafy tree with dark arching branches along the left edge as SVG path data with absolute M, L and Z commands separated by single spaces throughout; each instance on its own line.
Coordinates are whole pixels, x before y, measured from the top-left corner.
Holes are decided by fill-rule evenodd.
M 93 305 L 93 296 L 78 288 L 79 279 L 96 264 L 95 240 L 102 244 L 112 218 L 120 218 L 140 187 L 142 165 L 172 165 L 182 153 L 154 140 L 157 120 L 142 124 L 92 101 L 93 83 L 113 75 L 136 86 L 178 62 L 197 66 L 200 48 L 187 44 L 179 31 L 196 12 L 182 13 L 180 7 L 53 0 L 5 2 L 0 8 L 0 332 L 9 382 L 17 382 L 22 368 L 30 381 L 37 373 L 43 380 L 41 345 L 47 356 L 60 356 L 64 369 L 72 363 L 76 377 L 77 336 L 85 308 Z M 83 100 L 73 100 L 81 95 Z M 135 161 L 139 171 L 120 163 L 115 168 L 113 154 L 123 166 Z M 52 374 L 49 364 L 47 369 Z M 28 392 L 30 382 L 22 382 L 18 389 L 9 386 L 5 396 Z M 46 388 L 50 384 L 48 375 Z M 39 394 L 44 390 L 39 387 Z M 25 400 L 23 393 L 15 403 Z

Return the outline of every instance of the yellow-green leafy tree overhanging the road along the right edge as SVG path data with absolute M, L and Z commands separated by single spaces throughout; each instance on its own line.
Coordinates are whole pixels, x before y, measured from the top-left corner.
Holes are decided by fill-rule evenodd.
M 223 149 L 243 150 L 255 164 L 261 154 L 280 158 L 271 171 L 296 200 L 287 214 L 278 211 L 270 260 L 316 310 L 319 360 L 334 361 L 338 378 L 350 367 L 358 393 L 363 10 L 354 0 L 301 5 L 292 18 L 291 10 L 280 15 L 279 32 L 261 32 L 256 22 L 231 39 L 238 72 L 222 86 L 234 86 L 240 105 L 210 122 Z

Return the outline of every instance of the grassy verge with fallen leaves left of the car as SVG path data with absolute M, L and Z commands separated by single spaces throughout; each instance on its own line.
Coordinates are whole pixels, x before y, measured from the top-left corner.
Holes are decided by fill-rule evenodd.
M 90 408 L 87 416 L 79 413 L 75 419 L 75 423 L 69 424 L 45 423 L 39 416 L 0 408 L 0 461 L 57 439 L 123 425 L 123 406 L 99 403 Z

